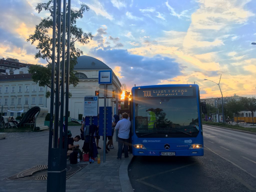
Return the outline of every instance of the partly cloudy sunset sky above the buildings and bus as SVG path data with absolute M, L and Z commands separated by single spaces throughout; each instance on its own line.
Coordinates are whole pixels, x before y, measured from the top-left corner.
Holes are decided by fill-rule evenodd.
M 26 41 L 49 16 L 35 10 L 46 2 L 1 0 L 0 58 L 47 64 Z M 77 26 L 94 38 L 76 47 L 108 65 L 127 91 L 195 83 L 201 98 L 221 97 L 221 76 L 223 97 L 256 97 L 256 1 L 71 0 L 71 8 L 81 3 L 90 10 Z

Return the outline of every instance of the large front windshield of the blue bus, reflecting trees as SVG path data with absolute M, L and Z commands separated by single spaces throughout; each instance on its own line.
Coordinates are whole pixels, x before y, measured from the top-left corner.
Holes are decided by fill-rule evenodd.
M 196 137 L 199 132 L 196 97 L 136 98 L 138 137 Z

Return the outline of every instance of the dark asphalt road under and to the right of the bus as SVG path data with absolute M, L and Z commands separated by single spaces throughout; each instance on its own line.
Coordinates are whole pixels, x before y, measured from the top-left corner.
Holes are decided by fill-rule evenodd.
M 256 135 L 203 126 L 204 156 L 135 156 L 134 191 L 256 191 Z

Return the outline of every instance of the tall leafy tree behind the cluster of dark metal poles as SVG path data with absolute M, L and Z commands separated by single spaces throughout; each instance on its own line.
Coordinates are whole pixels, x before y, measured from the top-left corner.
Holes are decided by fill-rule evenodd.
M 51 88 L 51 69 L 52 69 L 52 44 L 55 43 L 57 47 L 57 42 L 53 42 L 51 34 L 52 24 L 53 24 L 53 0 L 48 1 L 47 3 L 38 3 L 36 10 L 40 13 L 42 10 L 50 12 L 50 17 L 43 18 L 41 22 L 36 25 L 34 34 L 29 35 L 27 41 L 31 41 L 31 45 L 37 43 L 36 49 L 38 52 L 35 54 L 35 59 L 42 58 L 45 59 L 48 64 L 46 67 L 41 67 L 40 65 L 31 66 L 29 73 L 32 74 L 32 79 L 34 82 L 39 83 L 39 86 L 47 86 Z M 88 44 L 92 40 L 93 36 L 91 33 L 84 33 L 83 30 L 76 26 L 76 21 L 79 18 L 83 17 L 84 11 L 89 11 L 90 8 L 86 4 L 81 4 L 79 10 L 71 9 L 71 18 L 70 18 L 70 72 L 69 72 L 69 84 L 72 84 L 74 87 L 79 83 L 78 78 L 75 76 L 76 71 L 74 71 L 74 66 L 77 64 L 77 58 L 83 54 L 83 51 L 75 47 L 75 42 L 80 42 L 81 44 Z M 58 10 L 57 10 L 58 12 Z M 61 13 L 61 18 L 63 18 L 63 13 Z M 62 25 L 62 21 L 61 21 Z M 58 26 L 56 23 L 56 39 Z M 66 28 L 67 31 L 67 28 Z M 62 39 L 62 33 L 61 33 Z M 67 42 L 67 40 L 66 40 Z M 62 53 L 62 42 L 60 43 Z M 56 57 L 57 58 L 57 57 Z M 67 55 L 65 55 L 67 58 Z M 66 60 L 66 59 L 65 59 Z M 54 61 L 56 62 L 56 60 Z M 60 61 L 61 62 L 61 61 Z M 60 76 L 62 74 L 60 73 Z M 61 81 L 60 81 L 61 86 Z M 59 87 L 60 87 L 59 86 Z M 46 92 L 46 97 L 50 97 L 50 91 Z M 69 93 L 69 97 L 71 97 Z

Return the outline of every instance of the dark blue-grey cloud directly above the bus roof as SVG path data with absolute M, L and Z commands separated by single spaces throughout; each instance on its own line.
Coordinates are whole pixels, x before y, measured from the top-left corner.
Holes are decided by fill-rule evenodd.
M 163 79 L 173 78 L 181 74 L 181 69 L 174 59 L 156 55 L 143 57 L 130 54 L 124 49 L 91 50 L 97 58 L 102 58 L 106 65 L 119 68 L 119 80 L 126 86 L 150 85 L 161 83 Z

